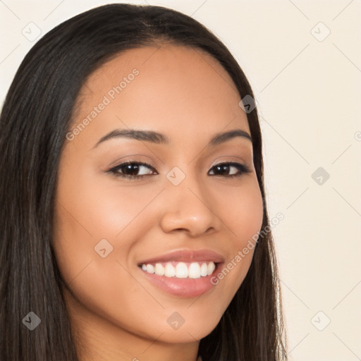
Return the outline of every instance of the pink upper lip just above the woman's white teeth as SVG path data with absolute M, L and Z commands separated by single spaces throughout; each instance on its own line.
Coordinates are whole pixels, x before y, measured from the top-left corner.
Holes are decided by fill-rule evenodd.
M 214 263 L 224 262 L 224 257 L 211 250 L 176 250 L 164 255 L 144 259 L 139 264 L 157 263 L 157 262 L 198 262 L 212 261 Z

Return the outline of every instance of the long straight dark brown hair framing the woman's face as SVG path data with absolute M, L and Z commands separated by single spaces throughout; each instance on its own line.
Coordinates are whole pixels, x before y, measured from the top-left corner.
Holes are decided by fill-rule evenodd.
M 253 93 L 225 45 L 196 20 L 160 6 L 110 4 L 61 23 L 25 56 L 0 116 L 0 360 L 78 361 L 52 219 L 61 148 L 80 87 L 127 49 L 170 42 L 211 54 L 240 98 Z M 264 202 L 257 109 L 247 114 Z M 286 360 L 281 294 L 271 231 L 259 234 L 250 269 L 216 328 L 200 341 L 204 361 Z M 23 325 L 30 312 L 42 326 Z

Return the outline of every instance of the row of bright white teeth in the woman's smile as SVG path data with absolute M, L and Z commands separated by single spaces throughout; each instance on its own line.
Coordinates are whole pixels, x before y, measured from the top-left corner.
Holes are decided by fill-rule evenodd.
M 174 262 L 173 262 L 174 264 Z M 172 262 L 166 264 L 142 264 L 142 270 L 149 274 L 157 274 L 157 276 L 176 277 L 177 279 L 199 279 L 200 277 L 209 276 L 216 269 L 214 262 L 178 262 L 176 267 Z

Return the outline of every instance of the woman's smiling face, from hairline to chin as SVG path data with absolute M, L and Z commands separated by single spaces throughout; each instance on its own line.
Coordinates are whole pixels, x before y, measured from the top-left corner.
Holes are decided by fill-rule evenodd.
M 61 154 L 54 219 L 73 322 L 107 342 L 199 341 L 243 282 L 253 252 L 243 248 L 262 226 L 235 85 L 199 50 L 143 47 L 92 73 L 81 100 Z M 130 130 L 161 135 L 116 133 Z M 210 143 L 230 130 L 240 132 Z

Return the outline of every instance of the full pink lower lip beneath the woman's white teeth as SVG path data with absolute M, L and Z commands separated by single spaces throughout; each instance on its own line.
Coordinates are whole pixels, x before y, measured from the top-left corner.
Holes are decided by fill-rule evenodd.
M 177 279 L 176 277 L 158 276 L 157 274 L 149 274 L 140 268 L 140 271 L 155 286 L 165 290 L 166 293 L 176 295 L 178 297 L 197 297 L 211 290 L 215 285 L 211 283 L 212 277 L 219 273 L 221 263 L 216 264 L 216 269 L 209 276 L 200 277 L 199 279 Z

